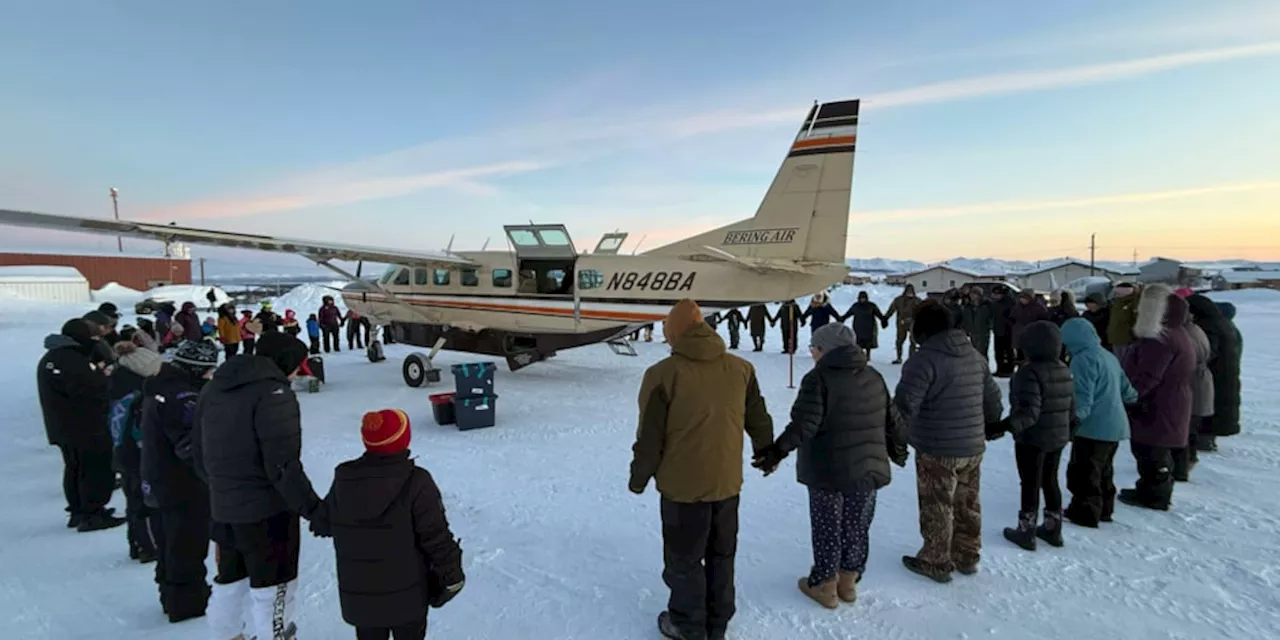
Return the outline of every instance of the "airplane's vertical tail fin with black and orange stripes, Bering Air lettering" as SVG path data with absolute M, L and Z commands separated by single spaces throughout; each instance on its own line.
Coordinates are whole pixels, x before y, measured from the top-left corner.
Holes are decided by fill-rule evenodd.
M 732 253 L 762 260 L 844 262 L 858 108 L 858 100 L 846 100 L 809 110 L 755 218 L 645 255 Z

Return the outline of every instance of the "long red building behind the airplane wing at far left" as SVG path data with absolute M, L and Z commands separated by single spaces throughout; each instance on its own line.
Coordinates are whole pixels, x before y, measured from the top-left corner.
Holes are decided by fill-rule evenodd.
M 191 284 L 191 260 L 179 257 L 111 256 L 74 253 L 0 253 L 0 266 L 70 266 L 88 280 L 90 288 L 120 283 L 147 291 L 161 284 Z

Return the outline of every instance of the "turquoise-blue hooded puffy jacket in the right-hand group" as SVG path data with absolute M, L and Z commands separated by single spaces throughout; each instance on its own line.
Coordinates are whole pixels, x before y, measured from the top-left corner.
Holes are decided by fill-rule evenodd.
M 1062 324 L 1062 343 L 1071 355 L 1075 379 L 1075 435 L 1102 442 L 1129 438 L 1129 416 L 1124 406 L 1138 402 L 1138 392 L 1120 369 L 1120 361 L 1102 348 L 1093 323 L 1073 317 Z

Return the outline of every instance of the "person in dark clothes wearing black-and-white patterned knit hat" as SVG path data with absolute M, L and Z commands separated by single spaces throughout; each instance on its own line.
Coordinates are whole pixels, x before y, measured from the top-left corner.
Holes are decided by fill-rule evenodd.
M 198 618 L 209 604 L 209 488 L 196 475 L 192 438 L 218 356 L 210 340 L 184 340 L 142 388 L 142 490 L 155 506 L 156 584 L 169 622 Z

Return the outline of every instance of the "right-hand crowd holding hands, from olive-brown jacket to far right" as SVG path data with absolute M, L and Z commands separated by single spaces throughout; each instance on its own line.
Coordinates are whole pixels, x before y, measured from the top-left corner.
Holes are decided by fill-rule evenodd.
M 1004 538 L 1036 550 L 1038 543 L 1066 544 L 1064 521 L 1084 529 L 1112 522 L 1116 500 L 1167 511 L 1175 481 L 1189 479 L 1198 453 L 1239 433 L 1243 339 L 1233 305 L 1164 284 L 1120 283 L 1114 300 L 1089 296 L 1084 314 L 1066 292 L 1053 306 L 1030 291 L 1011 293 L 975 287 L 922 300 L 909 285 L 887 314 L 865 293 L 846 314 L 824 294 L 803 314 L 783 307 L 788 321 L 814 328 L 814 367 L 777 438 L 753 365 L 727 352 L 696 303 L 677 303 L 663 324 L 671 356 L 640 384 L 628 481 L 636 494 L 654 481 L 662 498 L 662 576 L 671 591 L 658 616 L 662 635 L 726 637 L 736 612 L 746 438 L 751 465 L 765 476 L 796 454 L 813 547 L 797 586 L 833 609 L 856 602 L 877 492 L 890 483 L 890 465 L 905 467 L 911 449 L 923 543 L 902 564 L 946 584 L 979 571 L 988 442 L 1014 439 L 1020 507 Z M 893 316 L 897 361 L 904 344 L 909 352 L 891 392 L 869 352 Z M 795 325 L 783 334 L 794 339 Z M 1010 378 L 1007 398 L 997 376 Z M 1138 480 L 1117 490 L 1115 454 L 1126 439 Z M 1064 507 L 1059 476 L 1068 445 Z

